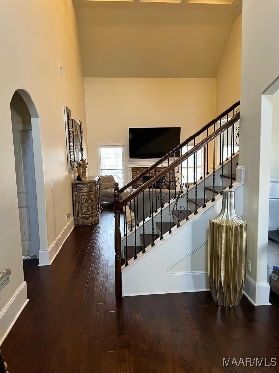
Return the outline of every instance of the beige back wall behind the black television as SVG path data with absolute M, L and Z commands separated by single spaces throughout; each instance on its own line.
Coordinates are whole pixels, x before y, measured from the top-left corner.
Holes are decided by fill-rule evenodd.
M 85 78 L 89 171 L 98 143 L 124 143 L 129 127 L 181 127 L 185 140 L 215 116 L 215 79 Z

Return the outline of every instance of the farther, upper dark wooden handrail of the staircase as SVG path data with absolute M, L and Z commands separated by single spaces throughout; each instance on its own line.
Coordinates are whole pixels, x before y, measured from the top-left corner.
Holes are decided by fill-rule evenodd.
M 185 141 L 183 141 L 181 144 L 177 145 L 176 148 L 171 150 L 168 154 L 164 155 L 161 159 L 156 161 L 152 166 L 150 166 L 147 170 L 144 170 L 140 173 L 140 175 L 136 176 L 134 179 L 129 181 L 125 186 L 119 189 L 119 193 L 123 193 L 124 190 L 128 189 L 130 186 L 135 184 L 138 180 L 142 179 L 142 176 L 149 173 L 149 171 L 154 170 L 157 166 L 159 166 L 161 163 L 163 163 L 166 159 L 171 157 L 172 154 L 175 154 L 177 151 L 179 151 L 181 148 L 183 148 L 186 144 L 188 144 L 190 141 L 192 141 L 194 138 L 200 136 L 204 131 L 209 129 L 214 123 L 217 123 L 219 120 L 221 120 L 223 117 L 225 117 L 227 114 L 229 114 L 233 109 L 236 109 L 240 105 L 240 101 L 235 102 L 232 106 L 230 106 L 227 110 L 223 111 L 220 115 L 218 115 L 215 119 L 212 119 L 209 123 L 207 123 L 205 126 L 203 126 L 199 131 L 197 131 L 194 135 L 191 135 L 188 137 Z M 181 159 L 181 157 L 179 157 Z M 152 179 L 154 180 L 154 179 Z M 156 179 L 157 180 L 157 179 Z

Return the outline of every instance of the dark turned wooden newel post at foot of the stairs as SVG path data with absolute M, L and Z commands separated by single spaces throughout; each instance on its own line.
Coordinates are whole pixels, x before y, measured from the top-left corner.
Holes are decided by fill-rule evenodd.
M 122 296 L 122 280 L 121 280 L 121 235 L 120 235 L 120 196 L 118 183 L 115 183 L 114 188 L 114 271 L 115 271 L 115 295 Z

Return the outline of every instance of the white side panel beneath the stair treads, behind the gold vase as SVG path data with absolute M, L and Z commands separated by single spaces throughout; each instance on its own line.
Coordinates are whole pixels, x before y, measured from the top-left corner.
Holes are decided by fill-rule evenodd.
M 235 182 L 235 210 L 242 216 L 243 183 Z M 209 220 L 221 211 L 222 196 L 200 208 L 197 215 L 173 227 L 144 254 L 122 266 L 123 296 L 204 291 L 209 289 L 207 274 Z

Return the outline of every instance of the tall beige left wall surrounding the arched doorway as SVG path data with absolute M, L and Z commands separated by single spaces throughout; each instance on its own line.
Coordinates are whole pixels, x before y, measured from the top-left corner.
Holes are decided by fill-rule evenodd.
M 39 113 L 48 246 L 64 228 L 66 213 L 72 212 L 73 172 L 67 171 L 64 105 L 72 110 L 73 118 L 81 119 L 84 125 L 86 118 L 78 30 L 71 0 L 1 1 L 0 46 L 0 268 L 11 269 L 10 283 L 0 293 L 1 316 L 1 311 L 24 281 L 11 98 L 18 88 L 25 89 Z M 59 64 L 63 68 L 63 78 L 59 75 Z M 50 190 L 51 181 L 53 190 Z

